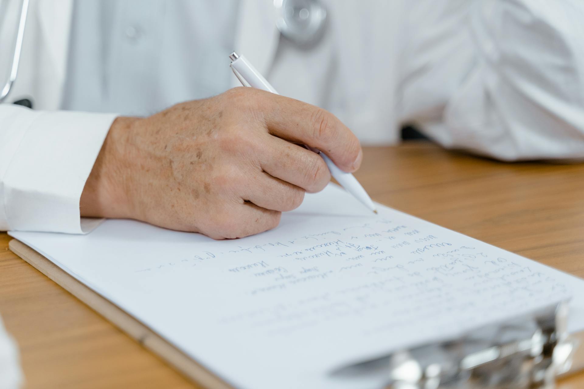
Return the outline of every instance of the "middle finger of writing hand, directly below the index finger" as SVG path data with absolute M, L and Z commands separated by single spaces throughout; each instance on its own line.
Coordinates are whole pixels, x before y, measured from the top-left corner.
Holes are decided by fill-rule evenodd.
M 319 192 L 331 181 L 331 172 L 317 153 L 303 146 L 270 136 L 260 159 L 262 169 L 270 176 L 280 178 L 303 188 L 309 193 Z

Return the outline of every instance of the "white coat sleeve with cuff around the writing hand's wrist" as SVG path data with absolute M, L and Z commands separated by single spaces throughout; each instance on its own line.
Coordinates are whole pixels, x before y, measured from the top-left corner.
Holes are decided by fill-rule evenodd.
M 116 115 L 0 104 L 0 230 L 86 233 L 79 199 Z

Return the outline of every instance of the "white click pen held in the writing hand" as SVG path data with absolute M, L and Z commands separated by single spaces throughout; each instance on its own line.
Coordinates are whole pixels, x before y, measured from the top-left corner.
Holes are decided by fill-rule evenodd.
M 272 92 L 279 94 L 276 92 L 276 89 L 270 85 L 269 82 L 249 63 L 249 61 L 243 56 L 238 55 L 237 52 L 232 52 L 229 56 L 231 59 L 231 70 L 235 73 L 235 76 L 241 82 L 243 86 L 251 86 L 255 87 L 256 89 L 266 90 L 267 92 Z M 308 147 L 308 149 L 318 153 L 322 159 L 325 160 L 326 166 L 328 166 L 329 170 L 331 171 L 331 176 L 335 177 L 335 180 L 343 187 L 347 192 L 352 194 L 357 200 L 359 200 L 363 205 L 367 208 L 371 209 L 371 211 L 377 213 L 376 206 L 371 201 L 371 198 L 367 194 L 367 192 L 363 189 L 357 178 L 353 176 L 351 173 L 346 173 L 339 169 L 332 160 L 325 155 L 325 153 L 321 153 L 320 150 Z

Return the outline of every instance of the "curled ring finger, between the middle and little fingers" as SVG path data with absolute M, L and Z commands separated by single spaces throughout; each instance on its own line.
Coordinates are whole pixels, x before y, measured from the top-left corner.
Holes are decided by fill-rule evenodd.
M 244 200 L 262 208 L 285 212 L 302 204 L 304 190 L 262 171 L 251 180 L 241 195 Z

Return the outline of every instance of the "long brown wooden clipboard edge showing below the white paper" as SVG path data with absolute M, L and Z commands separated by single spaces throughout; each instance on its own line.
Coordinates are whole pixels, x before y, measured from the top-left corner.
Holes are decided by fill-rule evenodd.
M 121 331 L 126 332 L 127 335 L 159 356 L 173 369 L 178 370 L 187 379 L 195 381 L 206 388 L 233 389 L 232 386 L 199 365 L 199 363 L 171 345 L 164 338 L 151 331 L 150 328 L 140 323 L 136 318 L 79 282 L 46 257 L 26 246 L 26 244 L 12 239 L 8 243 L 8 247 L 32 267 L 60 285 L 61 288 L 77 297 L 107 321 L 116 325 Z

